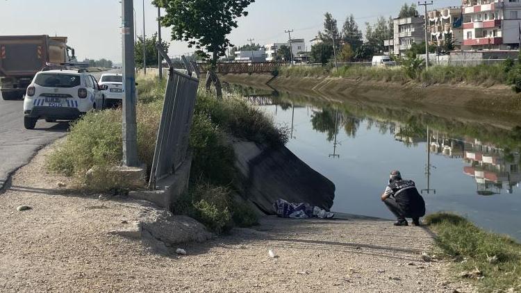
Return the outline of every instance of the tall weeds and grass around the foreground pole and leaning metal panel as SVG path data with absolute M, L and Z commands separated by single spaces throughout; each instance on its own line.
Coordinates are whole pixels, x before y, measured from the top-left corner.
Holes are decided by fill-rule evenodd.
M 165 82 L 147 77 L 140 78 L 138 84 L 138 156 L 149 167 L 154 158 Z M 82 190 L 125 190 L 126 183 L 112 171 L 122 160 L 121 119 L 121 109 L 88 112 L 72 124 L 66 140 L 49 154 L 47 168 L 71 176 Z M 258 108 L 238 97 L 217 100 L 199 90 L 190 131 L 190 191 L 174 205 L 174 212 L 195 217 L 216 233 L 257 223 L 249 206 L 233 200 L 235 153 L 229 135 L 273 147 L 288 140 L 287 132 L 276 128 Z

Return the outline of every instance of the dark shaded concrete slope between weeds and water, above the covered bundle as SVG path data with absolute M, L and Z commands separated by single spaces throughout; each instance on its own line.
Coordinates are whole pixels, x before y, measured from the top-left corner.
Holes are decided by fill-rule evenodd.
M 242 199 L 267 215 L 277 199 L 311 203 L 329 210 L 333 206 L 335 185 L 311 169 L 286 147 L 272 148 L 254 142 L 234 140 L 236 183 Z

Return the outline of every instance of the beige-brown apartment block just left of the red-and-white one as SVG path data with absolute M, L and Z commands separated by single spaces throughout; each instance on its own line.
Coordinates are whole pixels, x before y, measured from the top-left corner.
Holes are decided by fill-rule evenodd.
M 431 44 L 441 47 L 450 35 L 455 49 L 465 49 L 461 47 L 463 44 L 463 10 L 461 7 L 431 10 L 428 12 L 428 18 Z

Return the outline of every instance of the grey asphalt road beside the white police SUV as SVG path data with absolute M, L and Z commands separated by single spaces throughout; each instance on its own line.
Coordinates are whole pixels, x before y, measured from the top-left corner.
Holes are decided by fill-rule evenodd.
M 119 73 L 121 69 L 109 72 Z M 102 73 L 92 75 L 99 80 Z M 0 191 L 6 185 L 9 174 L 28 163 L 44 145 L 63 137 L 68 129 L 68 122 L 38 120 L 35 129 L 26 130 L 24 101 L 3 101 L 0 96 Z M 42 174 L 42 180 L 45 180 L 45 174 Z

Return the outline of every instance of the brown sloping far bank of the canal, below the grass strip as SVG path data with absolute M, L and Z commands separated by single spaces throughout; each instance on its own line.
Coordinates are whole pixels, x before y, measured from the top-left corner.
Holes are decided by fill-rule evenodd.
M 465 84 L 395 83 L 364 81 L 360 78 L 286 77 L 269 74 L 226 74 L 222 80 L 254 86 L 269 85 L 276 90 L 304 92 L 324 99 L 344 101 L 358 99 L 385 103 L 420 103 L 443 106 L 521 113 L 521 98 L 506 85 L 482 87 Z

